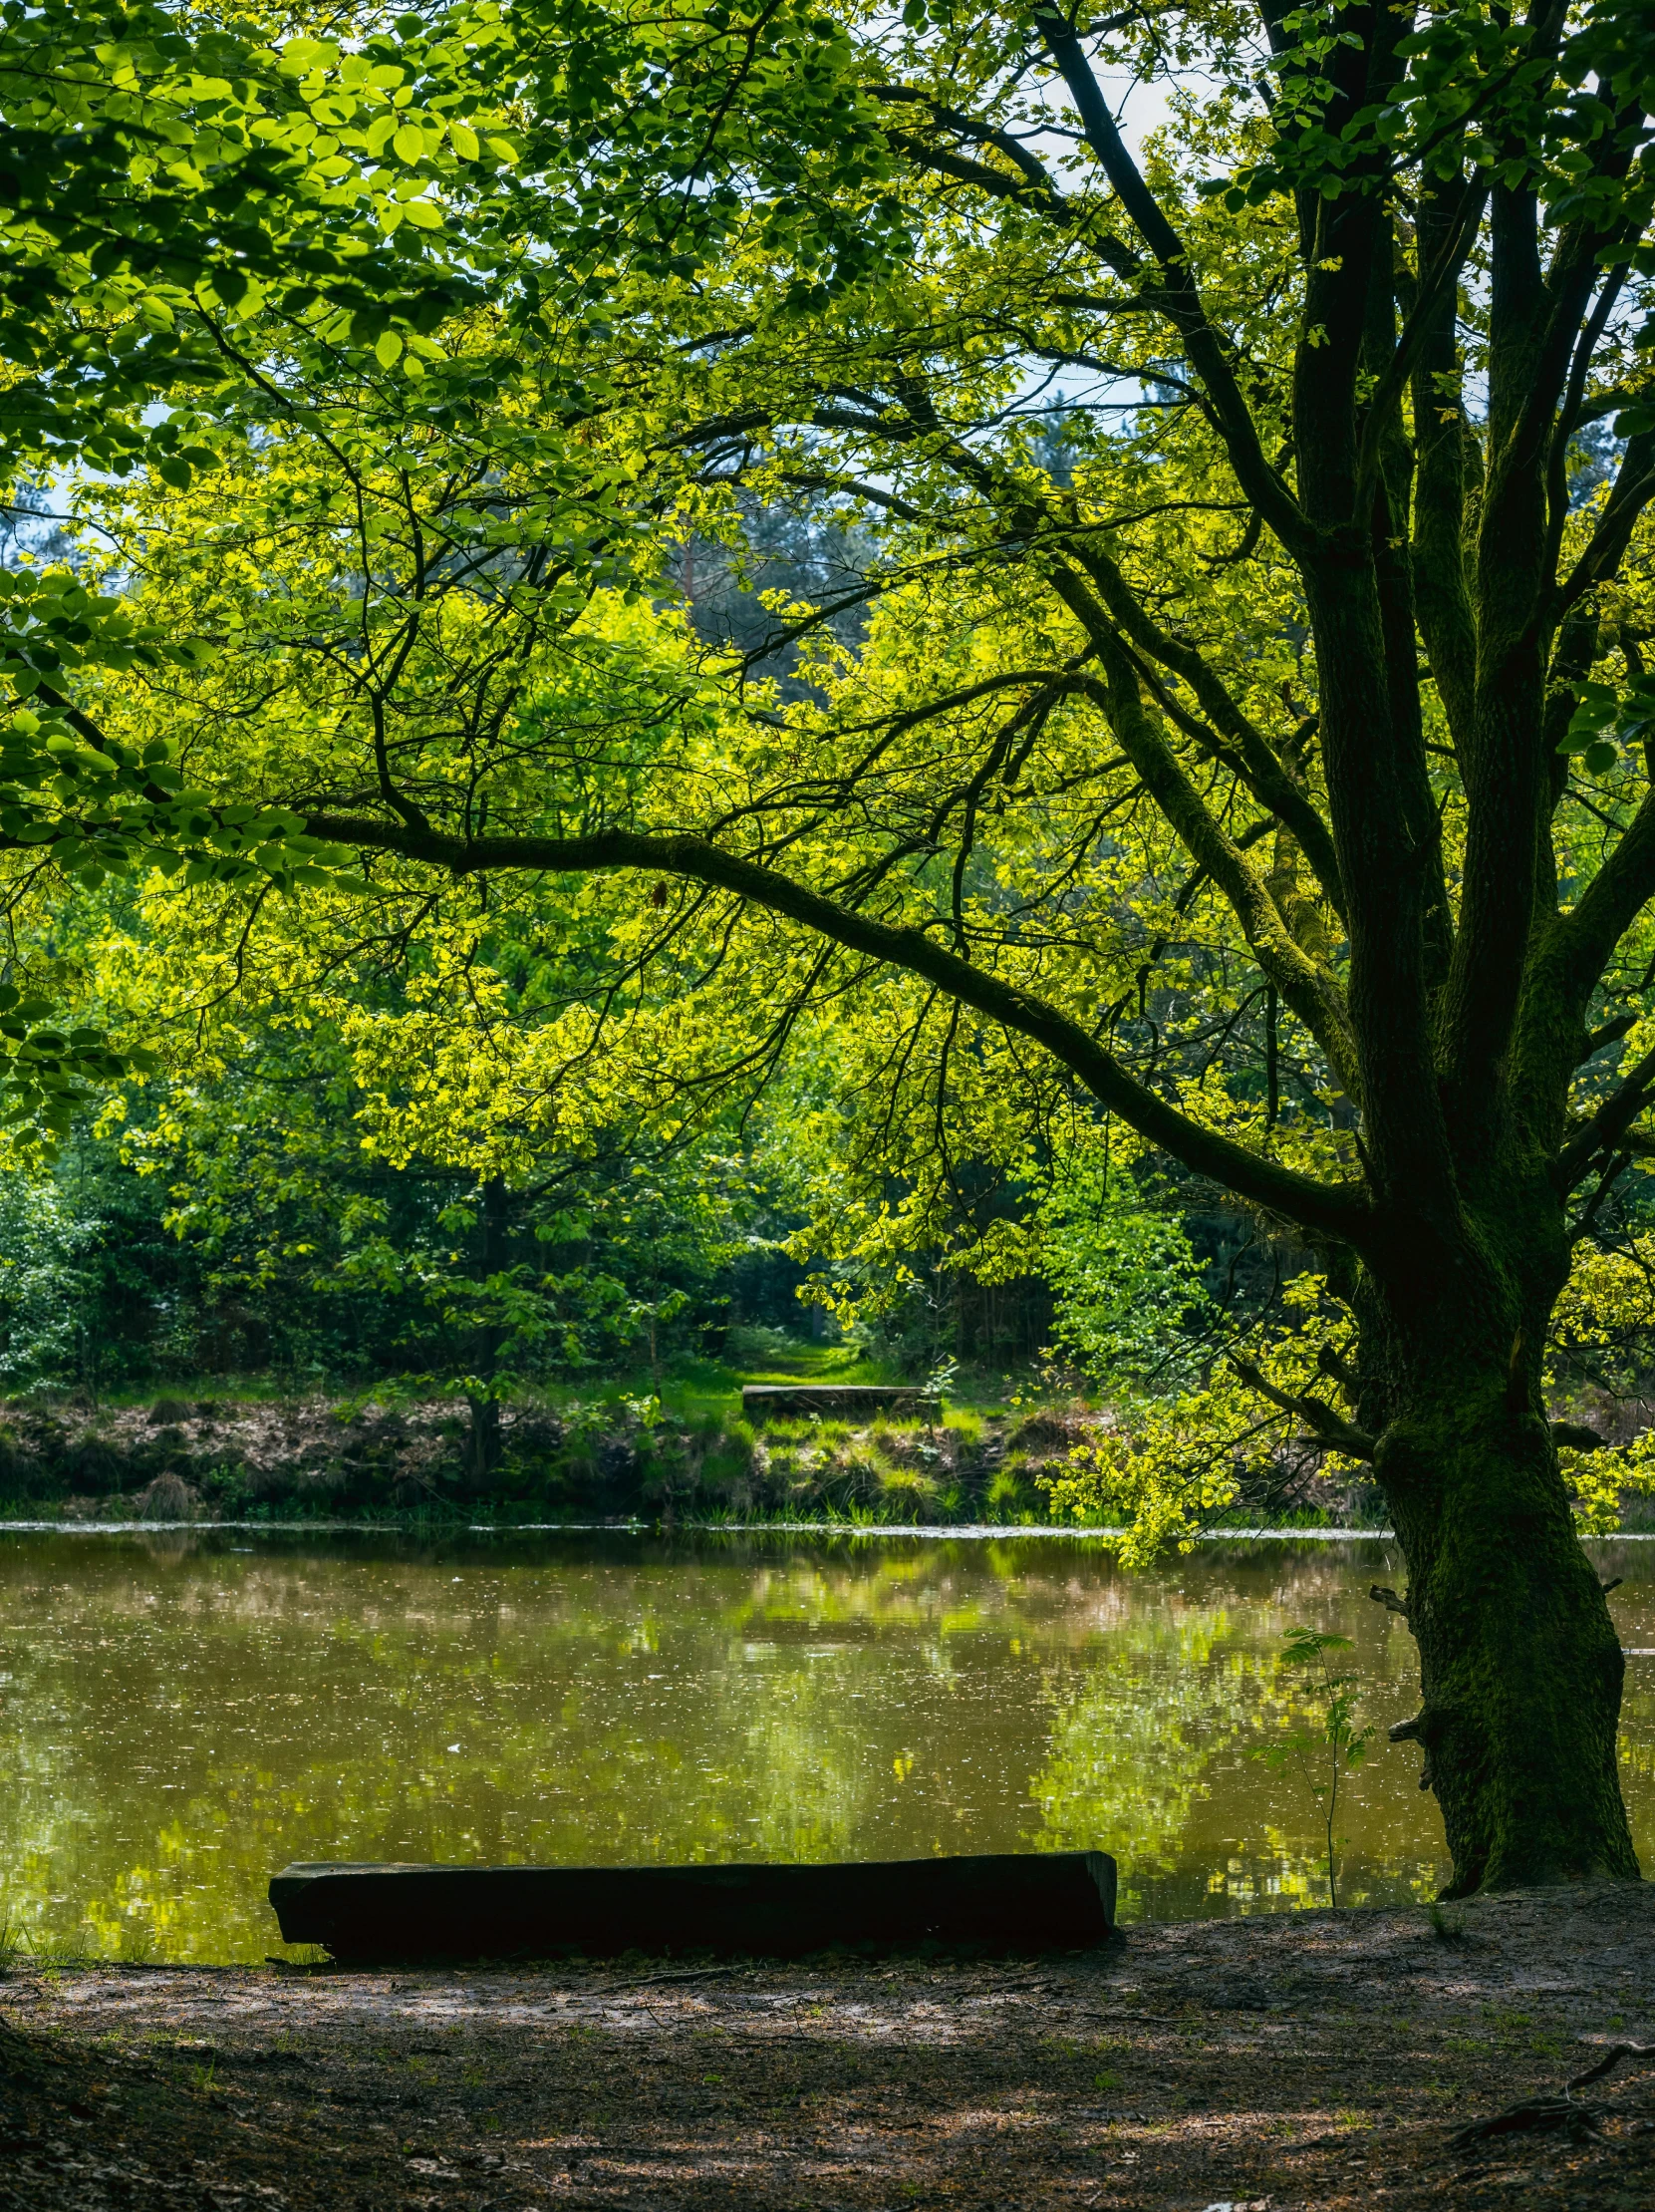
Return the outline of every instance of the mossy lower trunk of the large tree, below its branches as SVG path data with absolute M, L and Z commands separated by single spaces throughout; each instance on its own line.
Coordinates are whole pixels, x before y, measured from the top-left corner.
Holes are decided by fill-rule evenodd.
M 1421 1670 L 1401 1734 L 1425 1752 L 1421 1787 L 1443 1812 L 1447 1896 L 1640 1876 L 1615 1754 L 1620 1637 L 1540 1389 L 1562 1210 L 1536 1219 L 1545 1208 L 1514 1183 L 1498 1232 L 1483 1225 L 1430 1290 L 1414 1276 L 1379 1292 L 1370 1323 L 1392 1402 L 1374 1475 L 1408 1559 Z M 1509 1232 L 1525 1212 L 1518 1259 Z

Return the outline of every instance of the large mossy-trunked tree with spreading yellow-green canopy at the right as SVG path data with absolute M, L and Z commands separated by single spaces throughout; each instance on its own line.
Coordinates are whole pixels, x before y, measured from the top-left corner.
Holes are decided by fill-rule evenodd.
M 1655 1097 L 1648 9 L 513 22 L 493 305 L 413 376 L 219 327 L 241 493 L 124 557 L 221 657 L 93 710 L 384 898 L 643 872 L 736 1057 L 899 1000 L 893 1084 L 1036 1046 L 1290 1228 L 1350 1343 L 1259 1380 L 1394 1515 L 1454 1889 L 1635 1876 L 1542 1347 Z M 866 518 L 864 650 L 548 712 L 776 500 Z

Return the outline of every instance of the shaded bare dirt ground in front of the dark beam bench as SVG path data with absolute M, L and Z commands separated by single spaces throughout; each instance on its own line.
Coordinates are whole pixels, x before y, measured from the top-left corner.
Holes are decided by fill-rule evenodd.
M 1626 2044 L 1562 2126 L 1452 2143 Z M 1514 2203 L 1655 2208 L 1655 1887 L 1016 1962 L 0 1982 L 7 2212 Z

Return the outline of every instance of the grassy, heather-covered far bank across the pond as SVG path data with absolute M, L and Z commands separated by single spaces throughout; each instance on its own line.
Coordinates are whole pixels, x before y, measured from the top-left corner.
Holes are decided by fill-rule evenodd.
M 1081 1402 L 944 1420 L 753 1427 L 727 1371 L 557 1402 L 504 1402 L 477 1451 L 464 1400 L 155 1398 L 0 1407 L 0 1517 L 53 1520 L 864 1520 L 1045 1522 L 1043 1478 L 1105 1418 Z M 1304 1506 L 1377 1522 L 1377 1493 Z

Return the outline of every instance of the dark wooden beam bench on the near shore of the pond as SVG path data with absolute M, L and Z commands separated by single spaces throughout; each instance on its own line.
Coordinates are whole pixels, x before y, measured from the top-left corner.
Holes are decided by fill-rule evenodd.
M 1116 1916 L 1107 1851 L 837 1867 L 396 1867 L 320 1860 L 270 1882 L 283 1942 L 334 1958 L 988 1944 L 1078 1951 Z

